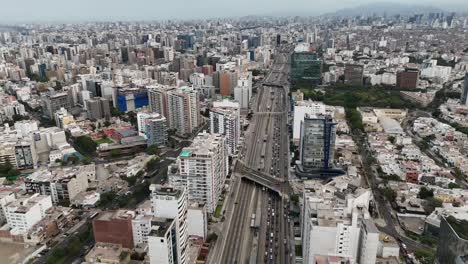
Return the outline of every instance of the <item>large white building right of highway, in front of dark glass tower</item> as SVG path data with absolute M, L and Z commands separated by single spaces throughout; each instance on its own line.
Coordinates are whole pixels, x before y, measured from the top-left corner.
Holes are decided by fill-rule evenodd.
M 346 180 L 312 183 L 303 193 L 301 238 L 303 263 L 317 263 L 321 256 L 346 258 L 351 264 L 375 263 L 378 234 L 369 215 L 372 194 L 358 188 L 342 195 Z M 364 231 L 361 229 L 367 228 Z M 377 242 L 377 244 L 375 244 Z

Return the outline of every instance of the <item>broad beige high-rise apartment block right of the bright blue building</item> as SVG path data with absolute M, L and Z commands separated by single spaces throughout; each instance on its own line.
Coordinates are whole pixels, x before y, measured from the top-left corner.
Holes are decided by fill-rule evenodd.
M 193 87 L 179 87 L 167 93 L 169 128 L 185 135 L 201 124 L 198 92 Z

